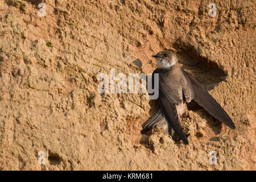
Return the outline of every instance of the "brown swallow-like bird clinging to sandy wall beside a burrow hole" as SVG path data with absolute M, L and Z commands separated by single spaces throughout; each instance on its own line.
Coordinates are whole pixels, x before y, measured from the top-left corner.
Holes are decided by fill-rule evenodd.
M 164 129 L 164 133 L 170 134 L 177 141 L 178 138 L 188 144 L 187 135 L 183 132 L 179 117 L 185 109 L 185 102 L 195 100 L 210 115 L 218 119 L 231 129 L 235 129 L 232 119 L 225 110 L 214 100 L 198 81 L 189 73 L 177 66 L 177 59 L 170 51 L 158 52 L 155 57 L 158 68 L 152 74 L 159 74 L 160 109 L 146 123 L 141 133 L 151 129 Z

